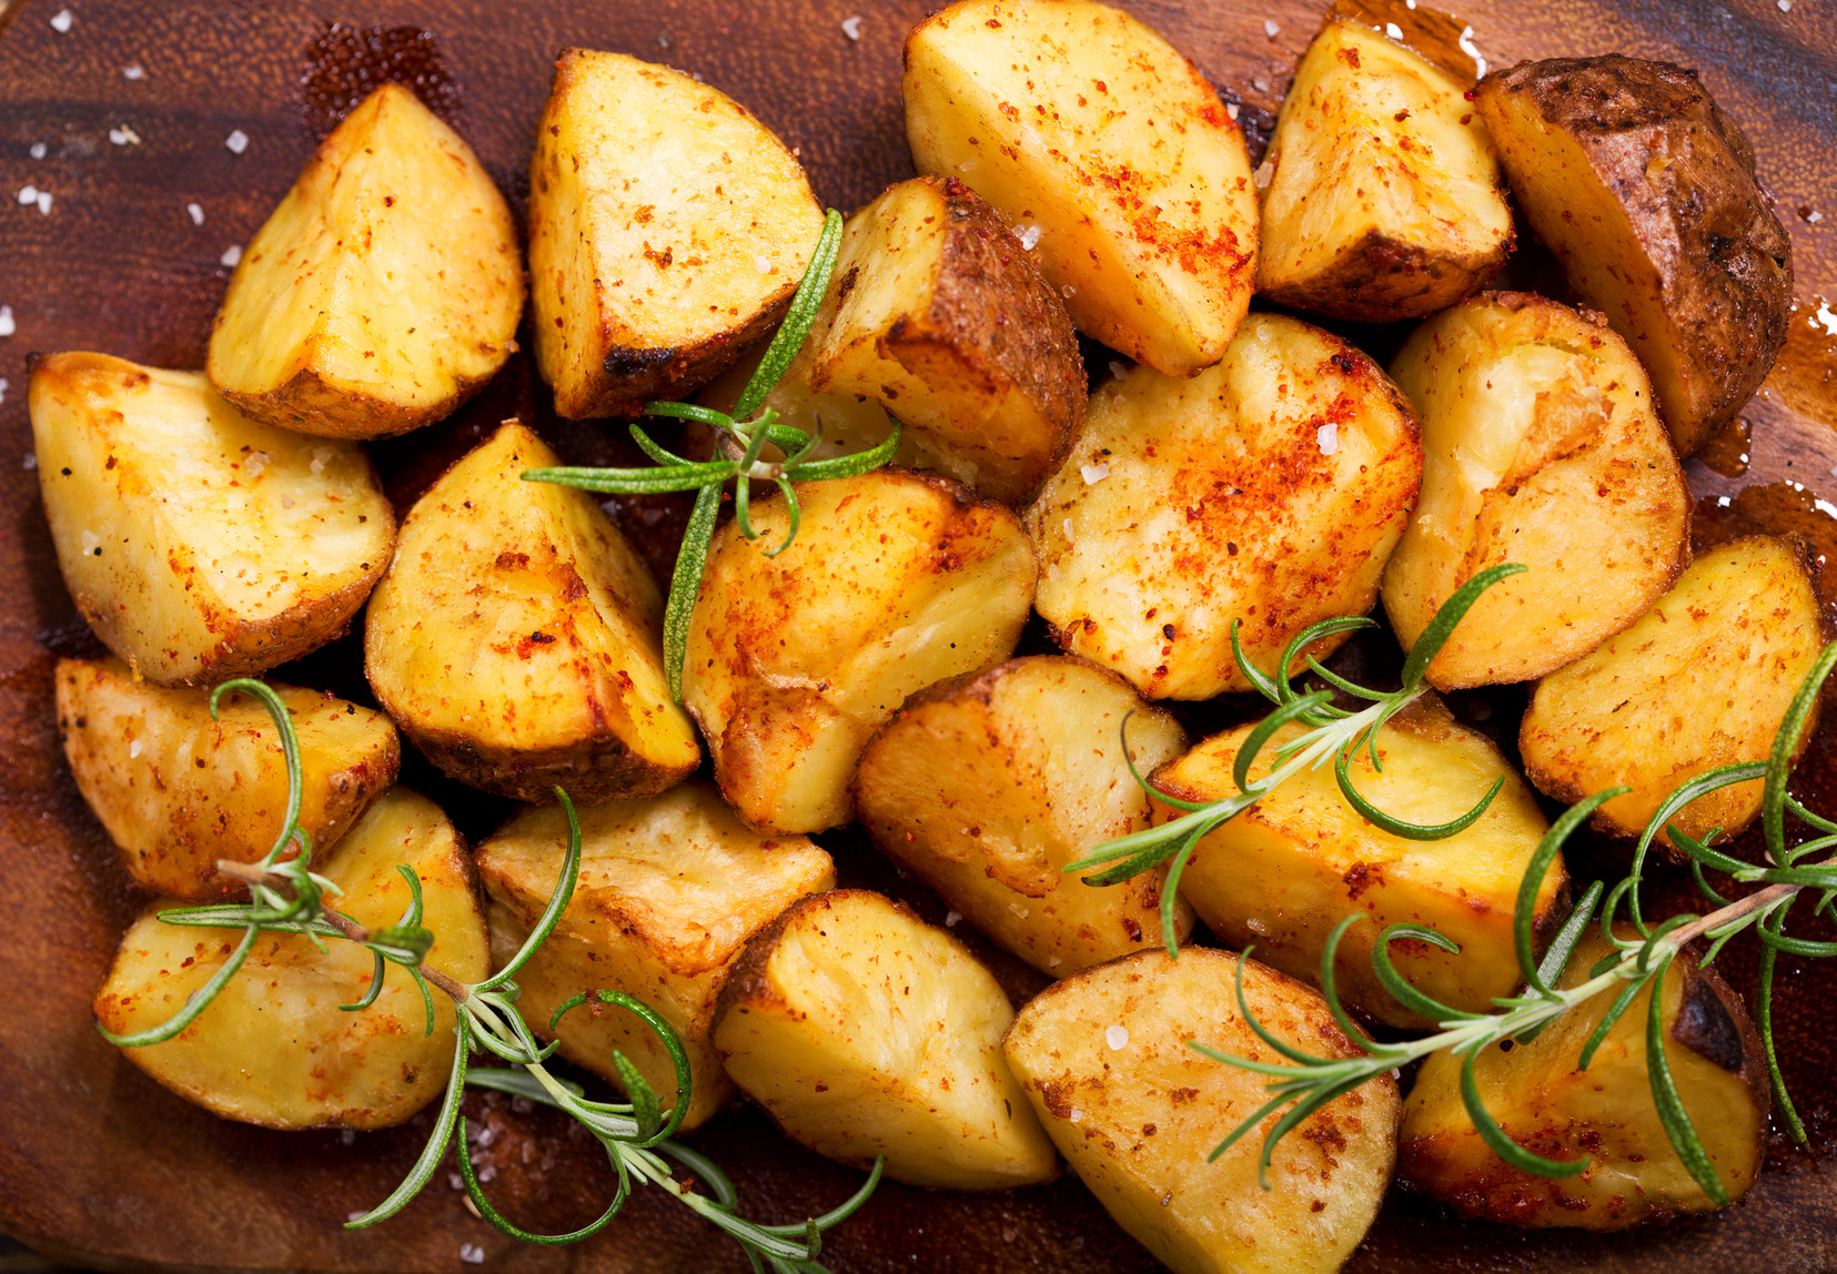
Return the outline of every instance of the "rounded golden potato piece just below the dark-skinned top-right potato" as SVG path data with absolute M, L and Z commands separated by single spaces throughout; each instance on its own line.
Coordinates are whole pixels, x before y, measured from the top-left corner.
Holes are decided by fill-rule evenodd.
M 1422 499 L 1383 576 L 1409 648 L 1490 565 L 1429 665 L 1440 690 L 1530 681 L 1646 613 L 1690 562 L 1690 488 L 1639 360 L 1587 310 L 1482 294 L 1416 329 L 1391 374 L 1422 413 Z

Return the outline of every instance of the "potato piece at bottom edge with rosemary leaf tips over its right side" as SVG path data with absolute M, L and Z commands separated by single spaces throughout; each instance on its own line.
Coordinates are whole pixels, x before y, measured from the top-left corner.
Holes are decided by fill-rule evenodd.
M 1209 1164 L 1268 1101 L 1266 1078 L 1187 1041 L 1275 1061 L 1238 1017 L 1236 971 L 1238 956 L 1207 947 L 1086 969 L 1034 997 L 1003 1052 L 1078 1179 L 1176 1274 L 1332 1274 L 1391 1182 L 1396 1083 L 1380 1076 L 1282 1138 L 1268 1191 L 1257 1180 L 1260 1133 Z M 1244 962 L 1244 999 L 1290 1045 L 1359 1052 L 1317 991 L 1255 960 Z

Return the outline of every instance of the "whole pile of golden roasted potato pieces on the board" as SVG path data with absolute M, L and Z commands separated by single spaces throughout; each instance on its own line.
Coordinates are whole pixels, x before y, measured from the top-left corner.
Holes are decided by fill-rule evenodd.
M 549 1035 L 580 991 L 641 997 L 687 1046 L 683 1127 L 744 1094 L 817 1153 L 884 1157 L 918 1186 L 1021 1186 L 1069 1162 L 1183 1272 L 1332 1270 L 1392 1179 L 1525 1226 L 1708 1208 L 1653 1112 L 1648 1045 L 1628 1026 L 1642 1010 L 1585 1078 L 1576 1054 L 1606 1002 L 1481 1059 L 1508 1134 L 1593 1155 L 1560 1182 L 1492 1155 L 1459 1061 L 1437 1056 L 1407 1092 L 1385 1078 L 1313 1112 L 1277 1145 L 1266 1191 L 1257 1138 L 1207 1160 L 1262 1105 L 1264 1078 L 1187 1041 L 1269 1056 L 1240 1019 L 1242 977 L 1268 1030 L 1354 1052 L 1312 986 L 1348 916 L 1365 923 L 1339 947 L 1337 989 L 1365 1019 L 1427 1026 L 1370 967 L 1398 920 L 1460 947 L 1405 942 L 1398 967 L 1488 1011 L 1517 989 L 1516 896 L 1549 828 L 1538 791 L 1626 786 L 1596 822 L 1629 837 L 1683 780 L 1767 754 L 1826 637 L 1808 553 L 1749 538 L 1692 560 L 1679 466 L 1767 373 L 1791 297 L 1741 130 L 1672 66 L 1528 62 L 1475 84 L 1332 17 L 1253 165 L 1216 88 L 1095 0 L 959 0 L 907 37 L 902 92 L 918 176 L 847 220 L 766 402 L 823 453 L 898 420 L 900 455 L 799 490 L 779 556 L 783 499 L 755 497 L 757 540 L 718 531 L 680 701 L 659 582 L 593 497 L 520 479 L 557 463 L 529 424 L 505 422 L 399 525 L 362 442 L 476 393 L 516 349 L 525 292 L 562 417 L 731 404 L 821 207 L 795 156 L 716 88 L 617 53 L 560 57 L 529 167 L 525 285 L 478 158 L 384 86 L 250 244 L 202 373 L 35 362 L 59 564 L 114 652 L 57 668 L 59 727 L 129 874 L 160 894 L 97 1019 L 156 1023 L 219 967 L 228 938 L 152 912 L 237 896 L 217 863 L 259 859 L 281 824 L 272 727 L 246 696 L 213 718 L 209 687 L 362 622 L 377 707 L 276 687 L 316 870 L 342 909 L 388 923 L 406 894 L 391 865 L 408 863 L 437 934 L 428 964 L 476 980 L 557 887 L 568 828 L 544 802 L 566 788 L 580 876 L 518 1008 Z M 1486 290 L 1525 233 L 1580 303 Z M 1302 316 L 1420 327 L 1381 367 Z M 1122 356 L 1095 389 L 1080 334 Z M 1532 685 L 1523 777 L 1435 694 L 1354 762 L 1359 789 L 1414 822 L 1503 782 L 1464 832 L 1396 837 L 1319 771 L 1205 837 L 1172 934 L 1163 872 L 1106 888 L 1065 874 L 1176 817 L 1155 795 L 1236 793 L 1249 727 L 1194 742 L 1157 703 L 1249 688 L 1233 624 L 1262 674 L 1295 676 L 1299 661 L 1277 663 L 1302 628 L 1381 602 L 1407 648 L 1503 562 L 1528 571 L 1466 613 L 1427 677 Z M 1031 613 L 1062 655 L 1012 657 Z M 531 804 L 467 848 L 393 786 L 404 738 Z M 1756 780 L 1677 824 L 1730 835 L 1758 808 Z M 851 821 L 1051 988 L 1016 1011 L 950 931 L 838 890 L 812 835 Z M 1567 905 L 1558 863 L 1539 940 Z M 1163 951 L 1201 922 L 1255 960 Z M 1598 955 L 1580 947 L 1565 977 Z M 406 1120 L 437 1096 L 454 1037 L 421 1030 L 400 980 L 340 1013 L 369 977 L 364 953 L 270 936 L 189 1030 L 130 1057 L 239 1120 Z M 1688 956 L 1651 993 L 1738 1197 L 1767 1114 L 1752 1026 Z M 626 1010 L 569 1015 L 555 1035 L 612 1083 L 623 1050 L 678 1098 Z

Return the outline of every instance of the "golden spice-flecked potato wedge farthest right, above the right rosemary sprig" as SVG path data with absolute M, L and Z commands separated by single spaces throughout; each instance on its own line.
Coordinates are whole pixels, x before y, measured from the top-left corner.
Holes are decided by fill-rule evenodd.
M 1749 536 L 1710 549 L 1624 633 L 1547 676 L 1517 745 L 1558 800 L 1631 788 L 1595 826 L 1639 835 L 1679 786 L 1718 766 L 1767 760 L 1787 705 L 1824 643 L 1806 545 Z M 1817 701 L 1797 751 L 1817 729 Z M 1741 832 L 1762 782 L 1697 797 L 1670 824 L 1692 839 Z M 1670 844 L 1668 833 L 1659 841 Z

